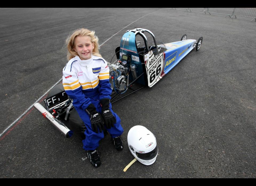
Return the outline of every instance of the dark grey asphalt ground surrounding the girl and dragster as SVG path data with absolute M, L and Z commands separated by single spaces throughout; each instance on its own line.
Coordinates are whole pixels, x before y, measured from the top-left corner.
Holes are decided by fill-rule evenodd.
M 29 109 L 62 78 L 65 40 L 81 27 L 95 30 L 100 45 L 109 39 L 100 48 L 107 61 L 129 29 L 148 29 L 158 43 L 203 37 L 153 87 L 113 104 L 124 149 L 105 136 L 98 168 L 76 136 Z M 1 178 L 256 177 L 255 22 L 170 8 L 1 8 L 0 28 Z M 135 125 L 153 132 L 159 153 L 153 165 L 136 161 L 123 172 L 134 159 L 127 134 Z

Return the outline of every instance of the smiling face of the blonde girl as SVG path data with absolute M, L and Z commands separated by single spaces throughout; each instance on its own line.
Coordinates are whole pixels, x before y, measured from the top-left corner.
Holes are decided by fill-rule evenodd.
M 89 36 L 75 37 L 74 50 L 77 52 L 81 60 L 90 59 L 93 53 L 94 44 L 91 42 Z

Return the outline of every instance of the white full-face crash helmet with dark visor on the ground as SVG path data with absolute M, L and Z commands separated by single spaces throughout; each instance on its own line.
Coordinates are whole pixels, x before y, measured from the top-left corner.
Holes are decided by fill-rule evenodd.
M 132 127 L 127 135 L 127 142 L 132 155 L 144 165 L 152 165 L 157 159 L 157 140 L 146 127 Z

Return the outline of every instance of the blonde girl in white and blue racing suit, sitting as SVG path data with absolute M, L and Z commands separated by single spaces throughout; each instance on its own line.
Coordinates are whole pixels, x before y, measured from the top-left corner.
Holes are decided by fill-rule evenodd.
M 121 120 L 111 109 L 109 67 L 98 50 L 94 31 L 76 30 L 67 39 L 69 62 L 63 68 L 63 87 L 73 99 L 73 105 L 86 126 L 82 140 L 94 167 L 101 165 L 97 147 L 104 138 L 103 130 L 110 133 L 115 148 L 123 149 Z

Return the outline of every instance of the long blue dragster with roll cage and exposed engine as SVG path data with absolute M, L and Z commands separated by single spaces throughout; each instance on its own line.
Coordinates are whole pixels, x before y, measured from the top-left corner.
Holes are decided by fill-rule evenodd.
M 152 37 L 153 45 L 149 45 L 146 34 Z M 142 41 L 137 41 L 138 37 Z M 113 56 L 108 62 L 112 88 L 111 103 L 143 87 L 154 86 L 193 48 L 199 50 L 202 41 L 202 37 L 198 41 L 187 39 L 185 34 L 180 41 L 157 44 L 154 34 L 149 30 L 141 28 L 127 30 L 121 38 L 120 46 L 115 49 L 116 60 L 113 60 Z M 134 89 L 135 83 L 139 88 Z M 56 85 L 44 102 L 46 108 L 40 103 L 35 103 L 34 107 L 67 138 L 73 135 L 70 129 L 74 127 L 84 126 L 83 130 L 86 130 L 62 84 Z M 83 130 L 81 134 L 77 134 L 80 139 L 85 138 Z

